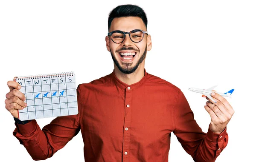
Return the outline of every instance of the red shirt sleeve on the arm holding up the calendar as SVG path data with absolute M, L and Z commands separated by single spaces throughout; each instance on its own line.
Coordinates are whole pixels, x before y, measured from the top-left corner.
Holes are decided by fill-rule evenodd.
M 78 108 L 81 108 L 80 88 L 77 88 Z M 36 120 L 24 125 L 17 124 L 13 135 L 20 141 L 32 159 L 44 160 L 52 157 L 80 131 L 80 110 L 77 115 L 56 117 L 41 130 Z

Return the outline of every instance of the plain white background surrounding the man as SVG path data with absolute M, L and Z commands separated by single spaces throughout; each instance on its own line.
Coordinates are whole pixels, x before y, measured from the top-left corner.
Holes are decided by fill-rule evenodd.
M 14 120 L 5 109 L 6 85 L 15 76 L 74 71 L 77 85 L 113 71 L 105 47 L 108 14 L 136 4 L 148 17 L 152 50 L 145 69 L 183 91 L 204 132 L 210 122 L 206 99 L 189 87 L 232 88 L 235 110 L 227 127 L 229 142 L 216 162 L 255 161 L 256 4 L 253 0 L 164 2 L 6 0 L 0 2 L 0 161 L 32 162 L 12 135 Z M 41 128 L 53 118 L 38 119 Z M 250 147 L 250 148 L 249 148 Z M 46 162 L 84 161 L 81 133 Z M 192 162 L 174 134 L 169 161 Z

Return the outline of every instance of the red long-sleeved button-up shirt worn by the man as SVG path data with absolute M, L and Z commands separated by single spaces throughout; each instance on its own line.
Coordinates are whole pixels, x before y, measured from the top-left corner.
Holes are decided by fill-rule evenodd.
M 173 132 L 197 162 L 213 162 L 227 146 L 226 129 L 205 134 L 183 93 L 154 75 L 132 85 L 114 71 L 80 84 L 79 114 L 57 117 L 41 130 L 35 120 L 19 125 L 14 136 L 33 159 L 47 159 L 81 130 L 86 162 L 168 162 Z

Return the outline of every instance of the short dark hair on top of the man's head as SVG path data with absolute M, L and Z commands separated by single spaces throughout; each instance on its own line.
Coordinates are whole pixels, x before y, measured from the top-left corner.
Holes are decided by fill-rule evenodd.
M 111 26 L 111 22 L 116 17 L 140 17 L 143 20 L 146 28 L 148 26 L 148 19 L 142 8 L 136 5 L 120 5 L 114 8 L 108 17 L 108 30 Z

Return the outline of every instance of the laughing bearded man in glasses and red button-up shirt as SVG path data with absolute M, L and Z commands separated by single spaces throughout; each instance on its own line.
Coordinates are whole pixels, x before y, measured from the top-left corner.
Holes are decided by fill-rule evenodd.
M 226 126 L 234 114 L 227 100 L 212 93 L 217 102 L 204 107 L 211 117 L 205 134 L 180 89 L 145 71 L 152 43 L 143 9 L 117 6 L 109 14 L 108 30 L 114 70 L 78 86 L 79 114 L 57 117 L 42 130 L 36 120 L 21 122 L 17 110 L 26 107 L 25 97 L 16 82 L 7 82 L 5 103 L 16 121 L 14 136 L 35 160 L 51 157 L 81 130 L 86 162 L 167 162 L 174 132 L 195 161 L 215 161 L 227 146 Z

